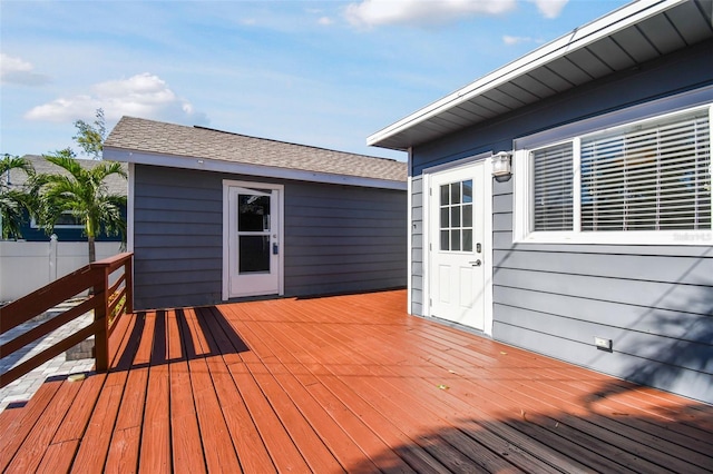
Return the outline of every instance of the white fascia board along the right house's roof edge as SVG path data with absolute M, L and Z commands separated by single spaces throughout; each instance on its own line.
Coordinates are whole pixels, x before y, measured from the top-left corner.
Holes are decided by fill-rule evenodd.
M 446 110 L 458 107 L 473 97 L 686 1 L 688 0 L 639 0 L 624 6 L 377 131 L 367 138 L 367 145 L 379 146 L 382 140 L 401 134 L 410 127 L 436 117 Z

